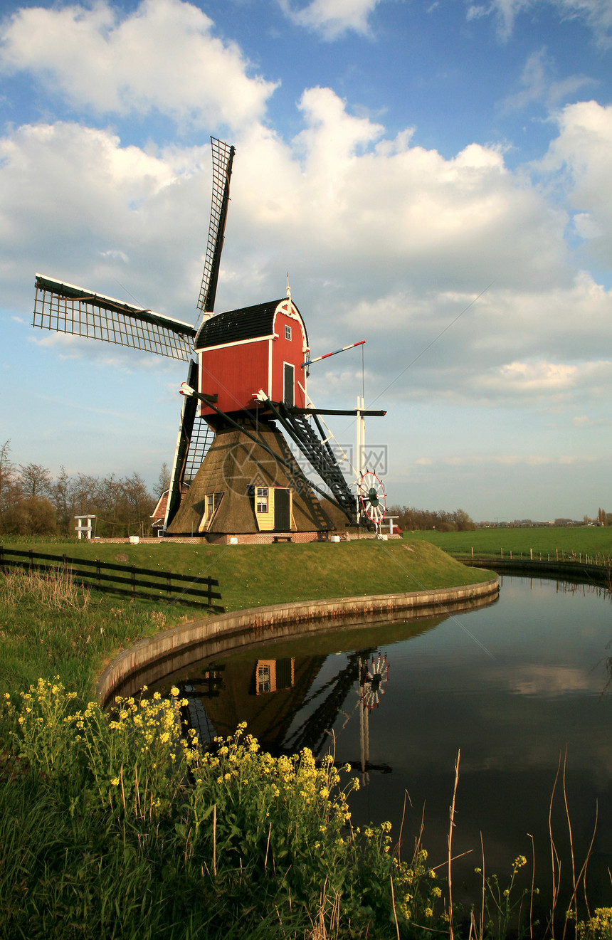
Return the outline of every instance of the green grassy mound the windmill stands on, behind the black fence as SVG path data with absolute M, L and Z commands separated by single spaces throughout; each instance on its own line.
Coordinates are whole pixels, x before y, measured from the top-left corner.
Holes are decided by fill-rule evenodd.
M 268 603 L 393 594 L 432 587 L 475 584 L 481 572 L 441 555 L 427 542 L 363 539 L 282 542 L 268 545 L 190 545 L 171 540 L 141 542 L 11 542 L 8 549 L 49 555 L 100 558 L 157 571 L 212 577 L 226 610 Z M 172 607 L 166 610 L 170 616 Z M 184 614 L 184 608 L 181 611 Z M 194 615 L 196 616 L 196 615 Z

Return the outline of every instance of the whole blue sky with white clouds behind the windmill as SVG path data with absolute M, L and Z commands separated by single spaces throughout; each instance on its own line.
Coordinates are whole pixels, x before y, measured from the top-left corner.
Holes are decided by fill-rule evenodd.
M 308 391 L 386 410 L 389 503 L 612 510 L 610 0 L 0 0 L 0 83 L 13 462 L 152 487 L 172 461 L 186 367 L 33 329 L 34 277 L 194 323 L 212 134 L 215 311 L 289 274 L 313 356 L 366 340 Z

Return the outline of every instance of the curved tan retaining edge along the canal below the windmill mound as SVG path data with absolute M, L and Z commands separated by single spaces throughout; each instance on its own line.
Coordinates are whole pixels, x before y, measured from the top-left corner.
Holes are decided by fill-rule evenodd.
M 137 640 L 127 650 L 118 653 L 102 671 L 97 684 L 98 697 L 106 704 L 126 685 L 126 691 L 132 694 L 144 683 L 176 672 L 194 660 L 197 647 L 203 648 L 198 658 L 204 658 L 206 646 L 211 646 L 212 652 L 216 654 L 223 650 L 290 638 L 296 634 L 342 629 L 345 620 L 368 618 L 368 625 L 372 625 L 377 617 L 382 616 L 386 621 L 390 615 L 398 613 L 406 619 L 432 617 L 436 614 L 444 616 L 492 603 L 498 592 L 495 577 L 463 587 L 279 603 L 190 620 L 178 627 Z M 159 664 L 159 669 L 154 668 L 156 664 Z

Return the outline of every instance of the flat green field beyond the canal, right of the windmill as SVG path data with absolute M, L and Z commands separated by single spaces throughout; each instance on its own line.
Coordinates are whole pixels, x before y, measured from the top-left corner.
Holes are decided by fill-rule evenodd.
M 612 526 L 580 525 L 575 528 L 541 525 L 534 528 L 484 528 L 473 532 L 406 532 L 404 539 L 411 542 L 427 542 L 436 545 L 450 555 L 505 558 L 528 557 L 533 550 L 534 558 L 569 558 L 574 556 L 612 556 Z

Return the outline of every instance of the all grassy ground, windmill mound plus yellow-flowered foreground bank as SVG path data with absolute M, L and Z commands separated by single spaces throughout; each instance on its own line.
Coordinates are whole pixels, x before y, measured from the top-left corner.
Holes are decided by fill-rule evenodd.
M 482 580 L 409 540 L 159 548 L 60 546 L 213 574 L 234 608 Z M 529 932 L 529 872 L 525 884 L 515 877 L 523 859 L 503 880 L 508 894 L 483 876 L 470 915 L 419 840 L 393 849 L 386 823 L 353 829 L 349 770 L 307 751 L 275 760 L 240 731 L 205 754 L 180 740 L 176 697 L 126 699 L 110 715 L 87 700 L 105 658 L 185 616 L 179 604 L 126 603 L 70 579 L 0 576 L 2 940 L 431 940 L 452 937 L 449 919 L 457 938 L 463 924 L 502 940 L 519 906 Z M 609 940 L 611 917 L 595 912 L 582 940 Z

